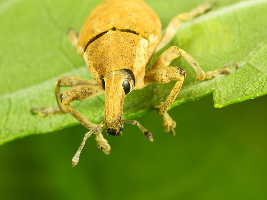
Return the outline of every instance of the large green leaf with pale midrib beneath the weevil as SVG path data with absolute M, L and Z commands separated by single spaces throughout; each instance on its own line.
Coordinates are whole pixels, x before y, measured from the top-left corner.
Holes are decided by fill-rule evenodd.
M 0 144 L 78 124 L 69 114 L 40 117 L 31 115 L 29 110 L 36 106 L 56 106 L 54 85 L 59 75 L 92 79 L 84 61 L 69 44 L 66 32 L 70 26 L 79 30 L 99 2 L 1 1 Z M 199 5 L 197 0 L 181 1 L 179 6 L 177 0 L 168 4 L 146 2 L 159 14 L 163 28 L 176 14 Z M 182 66 L 187 76 L 172 107 L 211 93 L 215 107 L 266 94 L 266 18 L 266 0 L 218 0 L 212 11 L 182 23 L 177 37 L 166 48 L 177 45 L 186 50 L 205 71 L 230 62 L 240 65 L 237 70 L 231 68 L 228 75 L 195 81 L 195 74 L 186 61 L 175 59 L 171 66 Z M 173 84 L 149 85 L 131 92 L 124 104 L 125 118 L 135 118 L 163 102 Z M 103 120 L 104 95 L 72 105 L 89 121 Z

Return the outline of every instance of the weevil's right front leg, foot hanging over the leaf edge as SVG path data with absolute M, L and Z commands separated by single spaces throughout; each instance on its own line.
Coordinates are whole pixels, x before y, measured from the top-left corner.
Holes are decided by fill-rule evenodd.
M 177 81 L 167 100 L 163 104 L 155 106 L 155 109 L 161 115 L 164 130 L 167 132 L 170 131 L 172 135 L 175 135 L 173 128 L 175 128 L 176 123 L 171 119 L 170 115 L 167 113 L 167 110 L 178 95 L 185 77 L 186 73 L 181 67 L 164 67 L 159 69 L 154 74 L 144 77 L 145 84 L 169 83 L 171 80 Z

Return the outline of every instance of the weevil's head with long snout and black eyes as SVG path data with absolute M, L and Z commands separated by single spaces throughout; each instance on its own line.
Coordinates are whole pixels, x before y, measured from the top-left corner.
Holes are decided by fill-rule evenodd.
M 123 129 L 125 95 L 134 89 L 134 74 L 130 69 L 118 69 L 103 74 L 101 85 L 105 90 L 105 127 L 107 134 L 120 136 Z

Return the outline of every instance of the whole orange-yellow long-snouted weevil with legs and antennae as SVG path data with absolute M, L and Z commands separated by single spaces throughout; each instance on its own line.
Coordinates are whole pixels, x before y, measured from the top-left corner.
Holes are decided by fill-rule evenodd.
M 36 107 L 31 111 L 41 116 L 55 113 L 70 113 L 89 129 L 77 153 L 72 159 L 74 167 L 79 161 L 86 139 L 94 133 L 99 149 L 109 154 L 110 146 L 102 136 L 103 125 L 108 135 L 120 136 L 123 123 L 137 125 L 145 137 L 153 141 L 152 134 L 137 121 L 123 120 L 124 97 L 132 90 L 144 88 L 151 83 L 164 84 L 176 81 L 170 95 L 161 105 L 155 106 L 161 115 L 164 130 L 175 135 L 175 121 L 167 113 L 179 93 L 186 77 L 184 69 L 169 66 L 170 62 L 183 56 L 196 72 L 196 79 L 210 79 L 227 74 L 225 66 L 215 71 L 204 72 L 197 62 L 183 49 L 171 46 L 146 70 L 153 54 L 162 49 L 174 37 L 182 20 L 190 20 L 211 9 L 211 2 L 203 3 L 191 12 L 175 16 L 161 38 L 161 22 L 149 6 L 141 0 L 106 0 L 89 14 L 79 34 L 73 29 L 68 32 L 71 44 L 77 49 L 95 81 L 73 76 L 60 76 L 55 85 L 57 108 Z M 60 87 L 71 89 L 60 94 Z M 70 103 L 86 100 L 105 93 L 104 121 L 92 124 L 77 112 Z

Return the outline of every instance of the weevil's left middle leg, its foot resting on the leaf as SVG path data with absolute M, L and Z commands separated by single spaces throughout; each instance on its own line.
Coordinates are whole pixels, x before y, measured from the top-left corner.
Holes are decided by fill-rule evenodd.
M 60 87 L 74 87 L 77 85 L 99 85 L 96 81 L 82 79 L 75 76 L 60 76 L 55 84 L 55 96 L 57 100 L 58 107 L 35 107 L 31 109 L 32 114 L 37 114 L 40 116 L 47 116 L 53 114 L 65 114 L 67 110 L 60 101 Z M 37 113 L 36 113 L 37 111 Z

